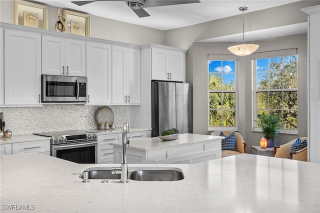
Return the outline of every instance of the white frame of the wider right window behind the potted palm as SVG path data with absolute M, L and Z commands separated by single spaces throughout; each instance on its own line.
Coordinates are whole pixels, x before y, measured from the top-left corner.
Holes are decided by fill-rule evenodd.
M 270 88 L 268 89 L 260 89 L 257 90 L 256 89 L 256 75 L 257 75 L 257 70 L 256 70 L 256 66 L 257 66 L 257 59 L 262 59 L 262 58 L 272 58 L 272 57 L 285 57 L 285 56 L 290 56 L 290 55 L 297 55 L 297 49 L 296 48 L 292 48 L 292 49 L 283 49 L 283 50 L 274 50 L 274 51 L 268 51 L 268 52 L 261 52 L 261 53 L 253 53 L 251 56 L 251 76 L 252 76 L 252 95 L 251 95 L 251 102 L 252 102 L 252 131 L 261 131 L 261 128 L 256 126 L 256 120 L 257 120 L 257 92 L 263 92 L 263 91 L 267 91 L 269 92 L 274 92 L 274 91 L 296 91 L 298 94 L 298 83 L 297 83 L 297 88 L 282 88 L 281 89 L 272 89 L 270 90 Z M 297 59 L 297 63 L 299 60 L 299 57 Z M 270 63 L 270 62 L 268 62 Z M 283 69 L 282 69 L 283 70 Z M 268 72 L 270 70 L 268 69 Z M 298 81 L 298 66 L 296 67 L 296 75 L 297 75 L 297 81 Z M 283 81 L 282 81 L 283 82 Z M 283 97 L 283 93 L 282 93 L 282 97 Z M 283 100 L 282 100 L 283 101 Z M 298 103 L 298 95 L 297 95 L 297 103 Z M 270 108 L 268 108 L 267 110 L 270 110 Z M 283 111 L 283 107 L 280 109 L 281 111 Z M 299 106 L 296 109 L 297 113 L 299 113 Z M 298 119 L 298 116 L 297 116 Z M 298 126 L 297 129 L 288 129 L 288 128 L 280 128 L 279 129 L 280 133 L 286 133 L 286 134 L 297 134 L 298 133 Z

